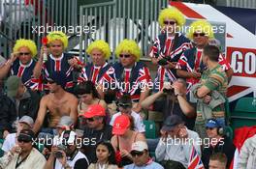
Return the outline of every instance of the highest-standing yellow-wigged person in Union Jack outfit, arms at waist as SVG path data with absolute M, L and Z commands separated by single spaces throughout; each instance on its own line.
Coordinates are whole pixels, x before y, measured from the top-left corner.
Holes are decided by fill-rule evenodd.
M 176 80 L 176 62 L 184 50 L 192 47 L 191 42 L 179 33 L 185 18 L 175 7 L 162 10 L 158 22 L 161 34 L 157 36 L 149 53 L 152 63 L 158 66 L 155 92 L 163 88 L 164 81 L 172 83 Z

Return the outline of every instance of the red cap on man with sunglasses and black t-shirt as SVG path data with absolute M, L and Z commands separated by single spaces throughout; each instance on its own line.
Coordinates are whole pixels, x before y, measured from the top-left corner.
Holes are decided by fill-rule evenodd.
M 92 104 L 87 111 L 82 115 L 85 118 L 92 118 L 95 116 L 106 116 L 105 108 L 100 104 Z

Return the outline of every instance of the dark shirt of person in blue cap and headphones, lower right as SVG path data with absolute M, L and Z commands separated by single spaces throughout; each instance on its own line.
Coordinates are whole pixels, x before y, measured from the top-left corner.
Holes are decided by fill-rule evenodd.
M 214 148 L 209 146 L 205 148 L 202 153 L 202 161 L 206 169 L 208 169 L 209 156 L 214 153 L 223 153 L 227 156 L 228 162 L 227 167 L 229 168 L 230 163 L 234 157 L 236 147 L 233 142 L 228 138 L 224 137 L 223 142 L 219 142 Z

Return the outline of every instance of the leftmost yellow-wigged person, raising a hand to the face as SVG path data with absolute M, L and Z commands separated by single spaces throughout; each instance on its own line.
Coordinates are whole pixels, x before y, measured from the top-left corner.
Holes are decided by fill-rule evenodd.
M 10 59 L 0 69 L 0 79 L 7 76 L 11 70 L 12 75 L 21 77 L 26 87 L 30 86 L 36 62 L 33 60 L 37 55 L 36 43 L 31 40 L 20 39 L 16 41 Z

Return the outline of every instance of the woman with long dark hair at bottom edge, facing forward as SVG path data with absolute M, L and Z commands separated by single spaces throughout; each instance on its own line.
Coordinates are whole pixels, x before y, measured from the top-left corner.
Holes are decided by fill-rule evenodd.
M 96 148 L 97 161 L 91 163 L 88 169 L 117 169 L 114 150 L 110 141 L 101 141 Z

